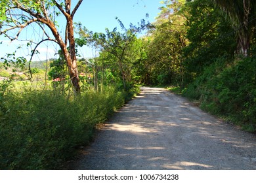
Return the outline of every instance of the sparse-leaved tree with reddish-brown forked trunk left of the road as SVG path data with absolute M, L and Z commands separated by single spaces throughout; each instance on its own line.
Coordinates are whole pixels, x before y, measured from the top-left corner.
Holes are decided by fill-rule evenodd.
M 80 92 L 75 53 L 75 39 L 73 18 L 83 0 L 79 0 L 74 9 L 71 9 L 72 0 L 1 0 L 0 4 L 0 35 L 5 35 L 11 41 L 18 40 L 20 33 L 29 25 L 37 24 L 43 32 L 43 41 L 54 41 L 62 50 L 68 72 L 75 92 Z M 60 35 L 56 17 L 66 18 L 66 31 L 64 37 Z M 50 29 L 53 38 L 45 28 Z M 45 38 L 46 37 L 46 38 Z

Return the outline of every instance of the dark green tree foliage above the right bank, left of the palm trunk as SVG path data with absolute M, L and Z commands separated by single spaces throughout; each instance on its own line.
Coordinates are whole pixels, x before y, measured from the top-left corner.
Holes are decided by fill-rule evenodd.
M 211 65 L 215 58 L 228 55 L 236 50 L 236 39 L 230 20 L 220 14 L 211 1 L 193 1 L 186 4 L 188 11 L 186 37 L 190 44 L 183 49 L 186 71 L 200 75 L 204 67 Z

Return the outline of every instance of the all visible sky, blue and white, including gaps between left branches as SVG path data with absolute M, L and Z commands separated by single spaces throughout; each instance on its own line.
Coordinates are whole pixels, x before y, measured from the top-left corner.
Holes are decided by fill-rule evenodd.
M 77 0 L 73 0 L 72 5 L 75 5 L 76 2 Z M 130 23 L 137 25 L 137 22 L 140 22 L 141 19 L 154 22 L 160 12 L 159 7 L 161 6 L 160 0 L 84 0 L 75 14 L 74 22 L 81 22 L 90 31 L 104 32 L 106 27 L 110 30 L 114 29 L 114 27 L 119 28 L 116 17 L 123 22 L 125 27 L 129 27 Z M 146 18 L 147 13 L 149 14 L 149 18 Z M 58 24 L 60 24 L 60 30 L 64 30 L 65 25 L 62 24 L 61 20 L 58 20 Z M 121 28 L 118 30 L 121 31 Z M 32 29 L 24 30 L 24 33 L 20 36 L 28 37 L 28 35 L 37 37 L 37 34 Z M 0 44 L 0 58 L 5 56 L 5 53 L 14 52 L 19 44 L 24 44 L 24 42 L 18 41 L 10 44 L 3 35 L 0 37 L 1 41 L 3 43 Z M 45 42 L 38 47 L 41 54 L 35 56 L 33 60 L 54 58 L 54 53 L 58 49 L 56 44 Z M 87 58 L 93 56 L 94 51 L 83 46 L 83 48 L 79 48 L 79 52 L 82 57 Z M 26 56 L 30 54 L 30 50 L 24 48 L 18 50 L 17 53 L 20 56 Z

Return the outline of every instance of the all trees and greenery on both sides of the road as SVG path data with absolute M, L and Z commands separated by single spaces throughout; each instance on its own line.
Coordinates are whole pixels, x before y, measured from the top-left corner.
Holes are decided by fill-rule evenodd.
M 19 40 L 36 24 L 43 37 L 28 42 L 31 58 L 45 41 L 60 49 L 41 67 L 16 51 L 1 58 L 0 169 L 61 169 L 139 86 L 169 88 L 255 133 L 255 1 L 165 0 L 155 22 L 116 18 L 121 31 L 104 33 L 73 22 L 82 1 L 1 2 L 0 37 Z M 53 13 L 66 18 L 64 37 Z M 100 51 L 78 59 L 83 46 Z

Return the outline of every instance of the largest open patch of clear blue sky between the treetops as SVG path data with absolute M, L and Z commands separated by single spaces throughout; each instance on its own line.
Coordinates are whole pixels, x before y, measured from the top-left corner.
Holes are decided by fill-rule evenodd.
M 160 6 L 160 0 L 85 0 L 74 19 L 89 30 L 104 31 L 105 27 L 118 27 L 116 16 L 123 24 L 129 25 L 130 22 L 137 24 L 148 13 L 148 20 L 153 22 Z

